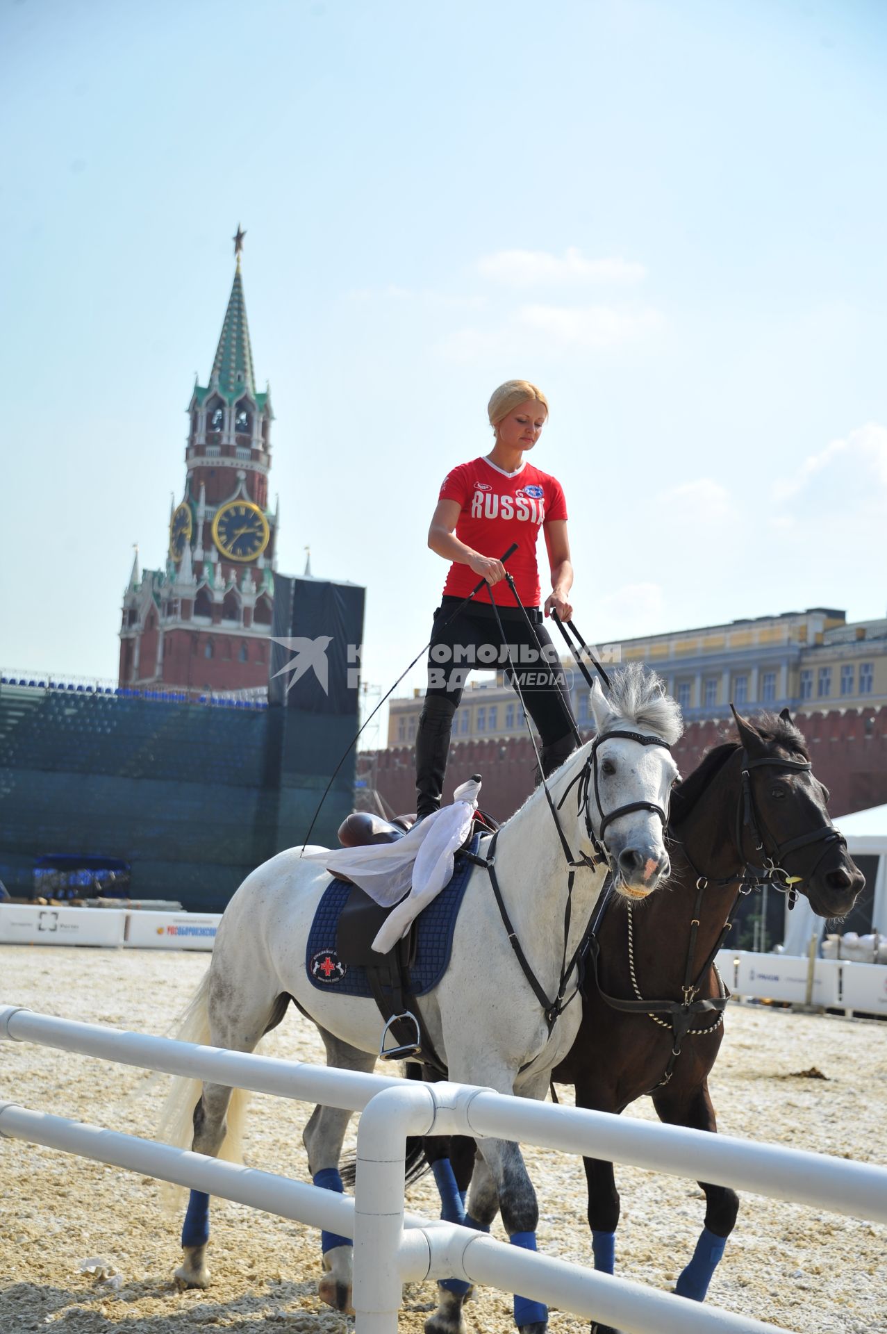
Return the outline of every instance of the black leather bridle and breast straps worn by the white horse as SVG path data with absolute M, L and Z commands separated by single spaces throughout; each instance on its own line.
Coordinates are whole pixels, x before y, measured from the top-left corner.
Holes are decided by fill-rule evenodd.
M 632 811 L 652 811 L 662 820 L 663 830 L 666 828 L 666 826 L 668 823 L 668 812 L 664 811 L 662 808 L 662 806 L 658 806 L 655 802 L 627 802 L 624 806 L 619 806 L 615 811 L 608 811 L 608 812 L 604 811 L 604 808 L 603 808 L 603 806 L 600 803 L 600 784 L 599 784 L 599 778 L 598 778 L 598 751 L 599 751 L 600 746 L 606 740 L 610 740 L 612 738 L 624 738 L 627 740 L 638 742 L 640 746 L 662 746 L 664 750 L 667 750 L 668 752 L 671 752 L 671 746 L 668 744 L 668 742 L 664 742 L 660 736 L 648 736 L 648 735 L 644 735 L 643 732 L 634 732 L 634 731 L 628 731 L 627 728 L 614 727 L 614 728 L 611 728 L 611 730 L 608 730 L 606 732 L 599 732 L 598 736 L 595 736 L 594 742 L 591 743 L 591 751 L 590 751 L 588 756 L 586 758 L 584 764 L 582 766 L 582 768 L 579 770 L 579 772 L 575 775 L 575 778 L 572 778 L 570 780 L 570 783 L 567 784 L 567 787 L 566 787 L 566 790 L 564 790 L 560 800 L 558 802 L 558 806 L 555 806 L 554 799 L 551 796 L 551 791 L 548 788 L 548 783 L 546 782 L 546 779 L 543 776 L 542 783 L 543 783 L 543 787 L 544 787 L 544 791 L 546 791 L 546 798 L 548 800 L 548 807 L 550 807 L 551 814 L 554 816 L 555 827 L 558 830 L 558 836 L 560 839 L 560 846 L 563 848 L 564 858 L 566 858 L 566 862 L 567 862 L 567 906 L 566 906 L 566 910 L 564 910 L 564 952 L 563 952 L 563 960 L 562 960 L 562 966 L 560 966 L 560 983 L 558 986 L 558 994 L 554 998 L 554 1000 L 551 1000 L 548 998 L 548 995 L 544 991 L 542 983 L 539 982 L 536 974 L 532 971 L 532 968 L 530 966 L 530 960 L 527 959 L 527 955 L 523 951 L 520 940 L 518 939 L 515 928 L 514 928 L 514 926 L 511 923 L 511 918 L 508 916 L 508 910 L 506 908 L 506 903 L 504 903 L 504 899 L 502 896 L 502 891 L 499 888 L 499 880 L 496 878 L 496 871 L 495 871 L 495 862 L 496 862 L 496 855 L 495 854 L 496 854 L 496 840 L 499 838 L 499 830 L 496 830 L 496 832 L 492 835 L 492 839 L 490 842 L 490 848 L 488 848 L 488 852 L 487 852 L 486 858 L 470 854 L 471 860 L 475 862 L 475 864 L 478 864 L 478 866 L 486 867 L 486 870 L 490 874 L 490 883 L 492 884 L 492 891 L 494 891 L 494 895 L 495 895 L 495 899 L 496 899 L 496 904 L 499 907 L 499 914 L 502 916 L 503 924 L 506 927 L 506 932 L 507 932 L 508 939 L 511 942 L 511 947 L 515 951 L 515 955 L 518 956 L 518 962 L 520 963 L 520 967 L 523 970 L 524 976 L 527 978 L 527 982 L 532 987 L 532 991 L 536 995 L 536 999 L 540 1002 L 540 1005 L 543 1007 L 543 1011 L 544 1011 L 544 1015 L 546 1015 L 546 1023 L 548 1025 L 548 1034 L 550 1035 L 551 1035 L 551 1031 L 552 1031 L 552 1029 L 554 1029 L 558 1018 L 563 1014 L 563 1011 L 567 1009 L 567 1006 L 570 1005 L 570 1002 L 576 998 L 576 995 L 579 994 L 579 990 L 582 987 L 583 976 L 584 976 L 584 966 L 583 966 L 582 960 L 583 960 L 583 956 L 584 956 L 586 950 L 588 947 L 588 940 L 590 940 L 591 932 L 592 932 L 592 922 L 595 919 L 595 914 L 592 912 L 592 916 L 590 918 L 588 924 L 587 924 L 586 930 L 582 934 L 582 939 L 580 939 L 579 944 L 576 946 L 576 950 L 575 950 L 572 958 L 570 959 L 570 963 L 567 963 L 567 942 L 570 939 L 570 922 L 571 922 L 571 915 L 572 915 L 572 891 L 574 891 L 574 883 L 575 883 L 575 879 L 576 879 L 576 870 L 579 867 L 582 867 L 582 866 L 587 866 L 591 870 L 596 870 L 599 866 L 607 866 L 612 871 L 612 860 L 611 860 L 610 852 L 608 852 L 608 850 L 607 850 L 607 847 L 606 847 L 606 844 L 603 842 L 603 838 L 604 838 L 604 832 L 607 830 L 607 826 L 612 824 L 612 822 L 616 820 L 616 819 L 619 819 L 620 815 L 630 815 Z M 592 847 L 591 856 L 588 856 L 587 852 L 583 852 L 582 848 L 579 850 L 579 855 L 574 856 L 572 850 L 570 847 L 570 843 L 567 842 L 567 836 L 566 836 L 566 834 L 564 834 L 564 831 L 563 831 L 563 828 L 560 826 L 560 820 L 558 818 L 558 811 L 562 808 L 562 806 L 564 804 L 564 802 L 567 799 L 567 795 L 570 794 L 570 791 L 574 787 L 576 788 L 576 814 L 583 814 L 584 815 L 586 832 L 588 835 L 588 840 L 590 840 L 591 847 Z M 598 834 L 595 834 L 594 826 L 592 826 L 592 820 L 591 820 L 591 799 L 590 799 L 590 794 L 592 791 L 595 794 L 595 803 L 598 806 L 598 812 L 600 815 L 600 827 L 598 830 Z M 571 995 L 567 996 L 567 999 L 564 999 L 564 995 L 567 992 L 567 982 L 570 979 L 570 975 L 572 974 L 574 967 L 576 967 L 578 964 L 579 964 L 579 967 L 578 967 L 578 974 L 576 974 L 576 984 L 575 984 Z

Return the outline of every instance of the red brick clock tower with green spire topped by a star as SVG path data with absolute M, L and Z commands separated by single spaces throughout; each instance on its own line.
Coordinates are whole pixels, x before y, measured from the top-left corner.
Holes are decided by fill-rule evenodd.
M 236 269 L 205 388 L 188 404 L 185 483 L 165 567 L 133 560 L 123 598 L 120 686 L 227 691 L 268 684 L 279 512 L 268 508 L 271 392 L 256 392 Z

